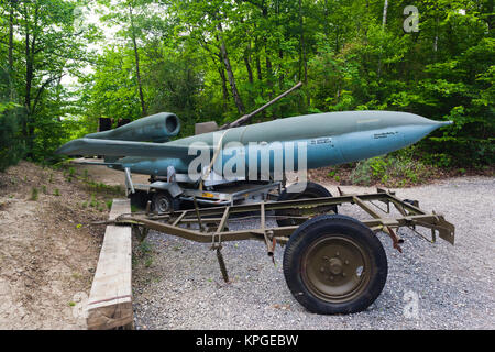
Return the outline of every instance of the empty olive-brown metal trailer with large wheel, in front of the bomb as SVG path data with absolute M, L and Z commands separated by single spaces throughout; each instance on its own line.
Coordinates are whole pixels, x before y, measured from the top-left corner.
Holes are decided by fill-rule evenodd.
M 340 188 L 339 193 L 339 197 L 210 208 L 199 208 L 194 199 L 194 209 L 157 215 L 147 207 L 144 212 L 123 215 L 114 222 L 131 224 L 140 240 L 152 229 L 210 243 L 226 282 L 229 276 L 221 253 L 223 242 L 263 241 L 272 258 L 276 244 L 285 245 L 283 271 L 288 288 L 309 311 L 324 315 L 361 311 L 380 296 L 388 266 L 377 232 L 388 234 L 399 252 L 403 239 L 397 230 L 403 227 L 430 242 L 438 234 L 454 243 L 454 226 L 441 215 L 421 210 L 417 201 L 399 199 L 395 193 L 380 188 L 374 194 L 343 194 Z M 344 204 L 356 205 L 370 219 L 360 221 L 338 215 L 337 206 Z M 260 226 L 229 231 L 229 220 L 248 218 L 260 219 Z M 270 218 L 279 226 L 268 226 Z M 418 232 L 418 227 L 430 229 L 431 238 Z

